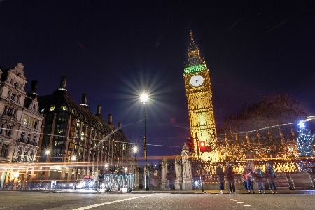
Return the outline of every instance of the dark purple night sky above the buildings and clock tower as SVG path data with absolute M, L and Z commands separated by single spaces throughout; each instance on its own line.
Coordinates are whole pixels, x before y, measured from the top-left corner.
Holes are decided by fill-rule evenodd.
M 263 94 L 288 93 L 315 114 L 315 1 L 0 1 L 0 64 L 22 62 L 38 94 L 61 76 L 76 102 L 123 123 L 143 156 L 190 136 L 183 80 L 190 30 L 210 70 L 216 124 Z M 151 146 L 163 145 L 163 146 Z M 170 146 L 167 146 L 170 145 Z M 172 147 L 174 146 L 174 147 Z

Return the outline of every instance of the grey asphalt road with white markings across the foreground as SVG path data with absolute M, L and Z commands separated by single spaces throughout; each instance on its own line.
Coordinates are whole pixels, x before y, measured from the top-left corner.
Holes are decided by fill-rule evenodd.
M 1 191 L 0 209 L 314 209 L 314 194 L 133 194 Z

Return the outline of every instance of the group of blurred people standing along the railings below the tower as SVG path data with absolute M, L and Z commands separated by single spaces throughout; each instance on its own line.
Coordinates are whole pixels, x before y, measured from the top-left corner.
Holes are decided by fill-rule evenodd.
M 224 191 L 224 177 L 226 176 L 228 180 L 228 187 L 230 193 L 235 193 L 235 173 L 233 171 L 230 162 L 226 162 L 225 171 L 223 172 L 223 168 L 221 167 L 221 163 L 218 163 L 218 167 L 216 168 L 216 174 L 218 175 L 218 183 L 220 186 L 221 193 Z M 269 188 L 271 193 L 276 192 L 276 174 L 274 173 L 274 169 L 267 162 L 265 167 L 265 172 L 262 172 L 262 169 L 254 169 L 251 170 L 249 166 L 244 166 L 244 171 L 241 174 L 241 180 L 244 182 L 245 190 L 248 190 L 248 193 L 255 194 L 253 188 L 253 182 L 256 181 L 259 193 L 266 193 L 265 189 L 265 180 L 267 179 L 269 183 Z

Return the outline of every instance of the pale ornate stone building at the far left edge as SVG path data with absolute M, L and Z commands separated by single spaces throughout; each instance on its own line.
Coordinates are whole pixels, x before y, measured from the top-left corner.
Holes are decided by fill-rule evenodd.
M 36 160 L 43 117 L 38 113 L 37 82 L 25 92 L 24 66 L 16 64 L 0 71 L 0 179 L 1 188 L 19 188 L 31 179 L 34 166 L 10 162 L 32 163 Z

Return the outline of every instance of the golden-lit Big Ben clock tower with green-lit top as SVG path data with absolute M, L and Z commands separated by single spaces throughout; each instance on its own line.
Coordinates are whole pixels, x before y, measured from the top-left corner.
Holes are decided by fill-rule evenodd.
M 190 134 L 194 139 L 197 136 L 199 141 L 205 141 L 207 146 L 213 148 L 212 152 L 200 153 L 201 160 L 207 161 L 210 158 L 211 162 L 216 162 L 218 161 L 217 136 L 209 69 L 204 59 L 200 57 L 192 31 L 190 31 L 190 37 L 188 62 L 185 63 L 183 74 L 188 101 Z M 195 151 L 197 151 L 196 141 L 194 144 Z M 197 153 L 195 153 L 195 157 L 197 158 Z

